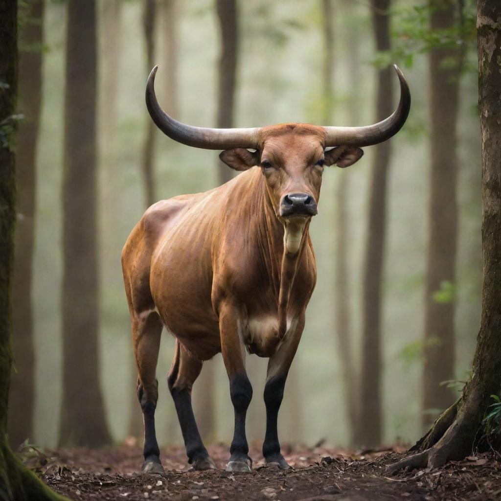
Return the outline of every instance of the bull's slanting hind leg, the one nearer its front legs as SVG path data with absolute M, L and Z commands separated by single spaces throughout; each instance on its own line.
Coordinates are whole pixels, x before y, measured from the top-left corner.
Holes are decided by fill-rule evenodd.
M 176 406 L 188 462 L 194 470 L 216 467 L 203 445 L 191 406 L 191 388 L 201 370 L 202 362 L 193 358 L 176 340 L 174 360 L 167 375 L 167 383 Z

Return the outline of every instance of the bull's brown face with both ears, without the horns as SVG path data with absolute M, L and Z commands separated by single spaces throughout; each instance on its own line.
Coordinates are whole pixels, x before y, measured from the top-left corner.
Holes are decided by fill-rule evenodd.
M 260 149 L 231 148 L 221 160 L 236 170 L 260 166 L 275 213 L 283 219 L 317 214 L 324 167 L 348 167 L 363 151 L 339 146 L 324 149 L 325 132 L 306 124 L 282 124 L 262 129 Z

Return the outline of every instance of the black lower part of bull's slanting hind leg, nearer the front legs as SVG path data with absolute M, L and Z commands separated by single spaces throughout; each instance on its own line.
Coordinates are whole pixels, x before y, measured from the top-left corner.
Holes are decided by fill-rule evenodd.
M 198 427 L 196 426 L 195 416 L 193 415 L 191 392 L 187 388 L 177 389 L 173 387 L 170 388 L 170 393 L 174 400 L 179 424 L 181 425 L 188 462 L 191 464 L 193 461 L 207 458 L 209 454 L 203 445 Z

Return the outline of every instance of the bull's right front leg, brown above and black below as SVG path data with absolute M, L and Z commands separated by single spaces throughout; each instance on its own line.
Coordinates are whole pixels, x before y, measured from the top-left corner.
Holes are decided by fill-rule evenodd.
M 291 363 L 298 349 L 301 334 L 305 326 L 304 314 L 291 322 L 282 344 L 270 357 L 265 385 L 266 435 L 263 443 L 263 456 L 268 464 L 277 464 L 282 469 L 289 468 L 280 452 L 277 428 L 280 404 L 284 397 L 284 387 Z

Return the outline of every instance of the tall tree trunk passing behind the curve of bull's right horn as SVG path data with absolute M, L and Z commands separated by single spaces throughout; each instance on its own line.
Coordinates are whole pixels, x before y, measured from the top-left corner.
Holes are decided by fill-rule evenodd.
M 390 49 L 390 0 L 372 0 L 376 49 Z M 378 72 L 377 120 L 392 113 L 393 75 L 391 69 Z M 374 147 L 371 173 L 367 241 L 363 278 L 363 330 L 361 409 L 358 441 L 366 446 L 381 441 L 381 290 L 386 233 L 386 189 L 391 142 Z

